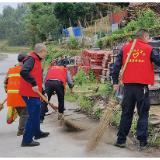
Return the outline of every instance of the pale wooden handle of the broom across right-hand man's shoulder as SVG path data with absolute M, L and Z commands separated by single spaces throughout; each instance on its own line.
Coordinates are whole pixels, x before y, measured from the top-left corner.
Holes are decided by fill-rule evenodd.
M 131 54 L 132 54 L 132 51 L 133 51 L 133 49 L 134 49 L 135 44 L 136 44 L 136 39 L 134 39 L 134 41 L 133 41 L 133 45 L 132 45 L 132 47 L 131 47 L 131 49 L 130 49 L 130 51 L 129 51 L 129 54 L 128 54 L 128 57 L 127 57 L 126 62 L 125 62 L 125 64 L 124 64 L 123 70 L 122 70 L 122 72 L 121 72 L 121 74 L 120 74 L 120 77 L 119 77 L 119 80 L 118 80 L 118 84 L 120 84 L 120 82 L 121 82 L 123 73 L 124 73 L 124 71 L 125 71 L 125 69 L 126 69 L 126 66 L 127 66 L 128 62 L 129 62 L 129 58 L 130 58 L 130 56 L 131 56 Z M 116 94 L 116 91 L 114 91 L 114 93 L 113 93 L 113 95 L 112 95 L 112 98 L 114 98 L 115 94 Z

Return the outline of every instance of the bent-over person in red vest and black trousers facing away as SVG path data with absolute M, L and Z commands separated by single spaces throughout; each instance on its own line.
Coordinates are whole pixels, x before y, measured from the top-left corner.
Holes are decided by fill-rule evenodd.
M 52 94 L 56 92 L 58 97 L 58 112 L 63 114 L 64 111 L 64 94 L 66 91 L 66 82 L 74 94 L 74 84 L 70 76 L 70 72 L 64 67 L 64 60 L 61 59 L 57 66 L 52 66 L 47 71 L 44 77 L 45 91 L 48 95 L 48 100 L 51 99 Z M 40 122 L 43 123 L 45 112 L 48 111 L 47 103 L 43 101 L 41 103 L 41 115 Z

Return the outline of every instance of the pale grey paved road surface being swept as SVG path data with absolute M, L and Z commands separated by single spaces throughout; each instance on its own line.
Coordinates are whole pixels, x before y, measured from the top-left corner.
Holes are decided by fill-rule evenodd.
M 9 67 L 17 64 L 18 54 L 4 54 L 0 56 L 0 103 L 7 94 L 4 91 L 3 81 Z M 58 105 L 56 95 L 52 96 L 51 102 Z M 57 113 L 48 105 L 52 113 L 45 116 L 41 130 L 50 132 L 46 138 L 36 140 L 40 142 L 36 147 L 21 147 L 22 136 L 17 136 L 19 117 L 12 124 L 7 124 L 6 117 L 8 108 L 6 103 L 0 111 L 0 158 L 147 158 L 153 157 L 147 152 L 138 152 L 137 147 L 128 138 L 126 148 L 114 146 L 117 129 L 109 126 L 108 136 L 105 133 L 95 150 L 86 153 L 86 144 L 98 124 L 97 120 L 89 119 L 86 115 L 75 112 L 79 106 L 76 103 L 65 101 L 66 118 L 87 126 L 85 131 L 68 131 L 59 125 Z M 109 137 L 109 138 L 108 138 Z

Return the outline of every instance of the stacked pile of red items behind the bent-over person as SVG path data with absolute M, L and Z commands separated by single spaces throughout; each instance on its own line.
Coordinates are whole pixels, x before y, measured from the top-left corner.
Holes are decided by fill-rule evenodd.
M 57 65 L 63 59 L 63 64 L 70 71 L 72 79 L 81 69 L 84 70 L 86 76 L 89 76 L 90 69 L 92 69 L 97 79 L 105 83 L 107 78 L 110 78 L 110 64 L 112 64 L 113 57 L 113 50 L 83 49 L 82 56 L 58 57 L 52 61 L 50 66 Z

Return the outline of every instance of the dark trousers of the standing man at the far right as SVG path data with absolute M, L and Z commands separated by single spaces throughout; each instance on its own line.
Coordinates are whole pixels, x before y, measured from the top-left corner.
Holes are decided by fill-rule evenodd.
M 132 124 L 133 112 L 137 103 L 139 119 L 137 122 L 137 139 L 147 142 L 148 117 L 150 109 L 149 89 L 147 85 L 125 84 L 123 90 L 122 115 L 117 133 L 118 142 L 125 143 Z

